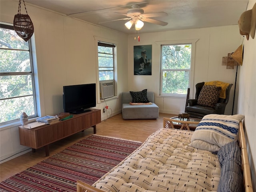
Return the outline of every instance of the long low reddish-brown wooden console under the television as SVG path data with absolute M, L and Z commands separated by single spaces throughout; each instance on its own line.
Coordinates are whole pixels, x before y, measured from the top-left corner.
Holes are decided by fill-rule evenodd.
M 100 122 L 100 109 L 91 109 L 90 112 L 74 114 L 70 119 L 50 125 L 42 125 L 33 129 L 26 129 L 23 126 L 19 126 L 20 144 L 31 147 L 32 152 L 45 147 L 45 155 L 49 156 L 49 144 L 90 127 L 93 127 L 93 132 L 96 134 L 96 124 Z

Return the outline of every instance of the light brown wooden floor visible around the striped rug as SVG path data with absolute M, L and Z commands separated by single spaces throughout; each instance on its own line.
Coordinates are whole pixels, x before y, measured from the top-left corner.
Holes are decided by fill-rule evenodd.
M 118 114 L 106 121 L 102 121 L 96 126 L 98 135 L 124 138 L 129 140 L 144 142 L 146 138 L 163 126 L 163 117 L 173 117 L 172 114 L 159 114 L 158 119 L 146 120 L 123 120 L 122 114 Z M 50 156 L 67 148 L 68 146 L 82 140 L 93 134 L 93 128 L 89 128 L 84 132 L 79 132 L 50 144 Z M 0 164 L 0 181 L 9 178 L 27 168 L 46 159 L 44 148 L 36 150 L 36 152 L 28 152 L 17 158 Z

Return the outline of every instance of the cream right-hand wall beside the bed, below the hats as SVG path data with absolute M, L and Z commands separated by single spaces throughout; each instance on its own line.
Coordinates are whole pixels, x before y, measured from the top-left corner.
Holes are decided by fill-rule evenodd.
M 249 1 L 247 10 L 252 9 L 256 1 Z M 254 191 L 256 190 L 256 35 L 254 39 L 244 38 L 243 65 L 239 67 L 238 91 L 236 100 L 238 103 L 237 114 L 244 114 L 244 128 L 250 153 L 250 168 Z

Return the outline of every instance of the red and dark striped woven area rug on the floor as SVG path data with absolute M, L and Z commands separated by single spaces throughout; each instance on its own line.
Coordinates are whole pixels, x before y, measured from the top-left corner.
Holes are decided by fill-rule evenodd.
M 142 143 L 91 135 L 0 183 L 0 192 L 76 192 L 93 184 Z

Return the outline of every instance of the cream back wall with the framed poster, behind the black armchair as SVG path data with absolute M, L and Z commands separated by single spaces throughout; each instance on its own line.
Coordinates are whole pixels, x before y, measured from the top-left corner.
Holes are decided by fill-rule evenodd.
M 129 90 L 139 91 L 147 88 L 155 92 L 155 102 L 160 112 L 179 114 L 184 112 L 186 97 L 162 97 L 160 94 L 160 46 L 170 41 L 184 41 L 198 39 L 195 50 L 194 84 L 190 87 L 190 98 L 195 96 L 195 85 L 198 82 L 219 80 L 232 83 L 230 100 L 226 106 L 225 114 L 232 114 L 234 96 L 235 69 L 226 69 L 222 66 L 222 57 L 234 52 L 240 45 L 241 36 L 238 25 L 191 30 L 176 30 L 140 34 L 140 42 L 134 40 L 135 35 L 129 35 L 128 64 L 129 64 Z M 161 43 L 159 43 L 161 42 Z M 137 45 L 152 45 L 152 76 L 134 75 L 133 47 Z M 194 89 L 194 92 L 193 92 Z

